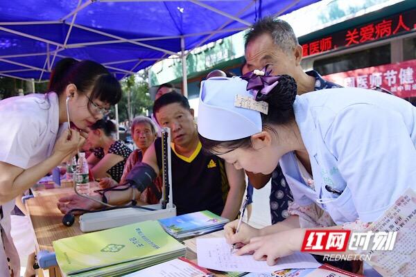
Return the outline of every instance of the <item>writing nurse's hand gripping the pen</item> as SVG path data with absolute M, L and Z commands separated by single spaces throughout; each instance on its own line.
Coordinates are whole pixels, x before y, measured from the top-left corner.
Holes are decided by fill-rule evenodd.
M 239 220 L 234 220 L 232 222 L 225 224 L 224 232 L 225 232 L 225 240 L 227 240 L 227 243 L 248 244 L 251 238 L 258 237 L 260 235 L 259 229 L 254 228 L 244 222 L 241 222 L 239 232 L 236 233 L 238 224 L 239 224 Z

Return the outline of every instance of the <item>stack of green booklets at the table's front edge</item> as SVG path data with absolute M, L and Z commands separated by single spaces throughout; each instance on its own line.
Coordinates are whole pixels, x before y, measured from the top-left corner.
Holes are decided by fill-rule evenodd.
M 53 242 L 67 276 L 122 276 L 184 256 L 186 247 L 157 221 L 145 221 Z

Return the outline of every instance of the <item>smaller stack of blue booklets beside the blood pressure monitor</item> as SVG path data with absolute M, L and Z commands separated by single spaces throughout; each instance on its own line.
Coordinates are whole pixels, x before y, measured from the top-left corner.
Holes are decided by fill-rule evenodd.
M 223 229 L 229 222 L 227 218 L 220 217 L 210 211 L 187 213 L 159 220 L 162 227 L 177 240 L 186 240 L 196 235 L 203 235 Z

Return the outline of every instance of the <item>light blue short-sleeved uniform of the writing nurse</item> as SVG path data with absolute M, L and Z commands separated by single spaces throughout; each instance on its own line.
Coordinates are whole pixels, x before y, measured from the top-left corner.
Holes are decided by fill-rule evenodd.
M 293 152 L 281 157 L 297 204 L 318 203 L 336 224 L 372 222 L 416 189 L 416 107 L 409 102 L 367 89 L 324 89 L 297 96 L 293 109 L 315 186 L 305 184 Z

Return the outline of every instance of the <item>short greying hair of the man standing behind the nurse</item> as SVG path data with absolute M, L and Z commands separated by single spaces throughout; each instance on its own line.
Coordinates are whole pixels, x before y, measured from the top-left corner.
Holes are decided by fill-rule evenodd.
M 299 44 L 290 24 L 281 19 L 263 17 L 254 23 L 245 34 L 244 48 L 247 47 L 249 42 L 263 34 L 269 34 L 273 43 L 286 53 L 293 51 Z

